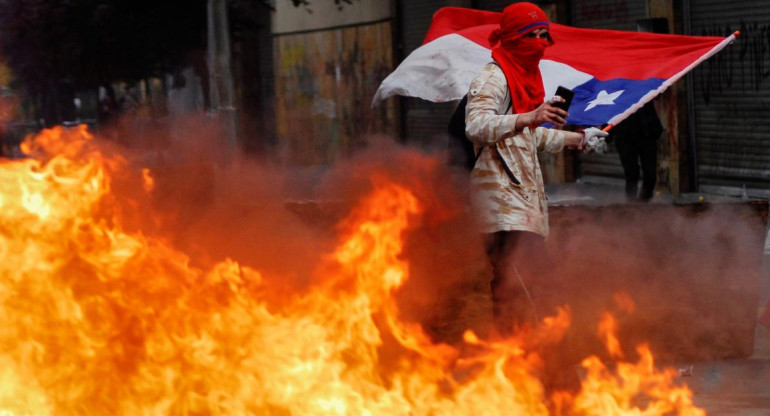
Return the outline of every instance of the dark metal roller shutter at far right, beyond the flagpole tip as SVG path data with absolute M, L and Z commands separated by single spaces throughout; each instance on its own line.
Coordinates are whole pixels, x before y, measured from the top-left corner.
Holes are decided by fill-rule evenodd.
M 693 72 L 699 185 L 770 189 L 770 6 L 691 0 L 693 35 L 741 35 Z

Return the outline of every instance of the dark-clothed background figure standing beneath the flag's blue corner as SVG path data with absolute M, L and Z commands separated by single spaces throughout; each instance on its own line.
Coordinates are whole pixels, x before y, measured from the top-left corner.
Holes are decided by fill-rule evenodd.
M 631 114 L 610 130 L 626 178 L 629 201 L 648 202 L 655 192 L 658 164 L 658 138 L 663 132 L 652 102 Z M 639 189 L 641 166 L 642 189 Z

